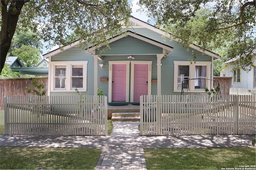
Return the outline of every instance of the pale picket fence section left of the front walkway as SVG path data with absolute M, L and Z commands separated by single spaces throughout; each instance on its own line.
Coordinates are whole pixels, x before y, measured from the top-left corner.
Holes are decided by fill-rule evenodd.
M 7 96 L 5 134 L 107 135 L 106 96 Z

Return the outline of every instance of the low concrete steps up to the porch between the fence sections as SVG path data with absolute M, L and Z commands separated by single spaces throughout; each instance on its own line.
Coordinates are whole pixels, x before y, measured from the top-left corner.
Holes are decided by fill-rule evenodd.
M 112 121 L 140 121 L 140 112 L 115 112 Z

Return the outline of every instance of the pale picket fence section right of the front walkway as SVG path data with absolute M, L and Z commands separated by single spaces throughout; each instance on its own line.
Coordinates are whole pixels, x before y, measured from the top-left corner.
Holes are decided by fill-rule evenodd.
M 249 95 L 140 96 L 140 133 L 253 135 L 255 100 Z

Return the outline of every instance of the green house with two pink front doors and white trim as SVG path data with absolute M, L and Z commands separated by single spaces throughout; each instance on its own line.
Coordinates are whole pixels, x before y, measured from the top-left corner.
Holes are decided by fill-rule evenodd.
M 109 104 L 137 104 L 141 95 L 181 94 L 186 78 L 213 78 L 213 61 L 220 57 L 190 45 L 189 51 L 170 34 L 131 17 L 131 28 L 112 37 L 110 49 L 84 50 L 79 41 L 43 55 L 49 59 L 48 95 L 97 95 L 102 87 Z M 191 63 L 193 54 L 196 63 Z M 204 92 L 210 80 L 192 80 L 184 91 Z

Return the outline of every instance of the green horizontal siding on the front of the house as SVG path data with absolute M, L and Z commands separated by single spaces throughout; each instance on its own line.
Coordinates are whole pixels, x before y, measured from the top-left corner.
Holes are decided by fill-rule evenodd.
M 196 61 L 212 61 L 212 57 L 208 55 L 202 55 L 192 48 L 188 50 L 176 41 L 170 41 L 169 38 L 164 38 L 162 35 L 151 31 L 146 28 L 134 28 L 130 29 L 135 33 L 148 37 L 160 43 L 173 47 L 173 52 L 170 52 L 166 57 L 161 60 L 161 73 L 162 73 L 162 94 L 172 95 L 180 94 L 179 92 L 173 92 L 174 86 L 174 63 L 173 61 L 188 61 L 193 58 L 192 52 L 196 54 Z M 100 51 L 96 50 L 96 55 L 100 54 Z M 98 64 L 104 64 L 103 68 L 98 66 L 98 87 L 102 87 L 103 94 L 108 95 L 108 82 L 100 82 L 100 78 L 108 78 L 108 61 L 127 61 L 128 55 L 132 55 L 135 59 L 132 61 L 152 61 L 152 79 L 160 79 L 157 77 L 157 59 L 156 55 L 134 55 L 134 54 L 157 54 L 162 53 L 162 48 L 136 39 L 132 36 L 121 38 L 117 41 L 110 43 L 110 49 L 104 54 L 101 54 L 102 61 L 98 61 Z M 52 61 L 88 61 L 88 75 L 87 75 L 87 92 L 86 95 L 92 95 L 94 90 L 94 64 L 92 55 L 86 53 L 83 49 L 78 47 L 72 47 L 66 51 L 63 51 L 52 57 Z M 151 93 L 157 94 L 157 83 L 152 83 Z M 64 94 L 65 92 L 63 92 Z M 51 92 L 52 95 L 56 92 Z M 62 94 L 62 93 L 58 93 Z M 71 94 L 71 93 L 69 93 Z M 65 94 L 66 95 L 66 94 Z

